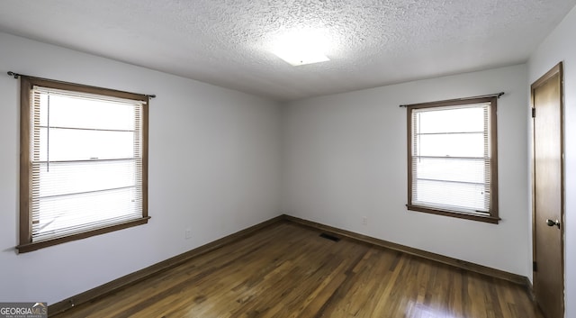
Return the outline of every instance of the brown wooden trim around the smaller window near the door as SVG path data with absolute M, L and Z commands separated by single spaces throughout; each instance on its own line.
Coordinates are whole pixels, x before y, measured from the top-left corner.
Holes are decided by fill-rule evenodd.
M 498 96 L 486 96 L 486 97 L 471 97 L 471 98 L 460 98 L 460 99 L 450 99 L 445 101 L 421 103 L 421 104 L 408 104 L 407 107 L 407 163 L 408 163 L 408 204 L 406 207 L 410 211 L 423 212 L 428 214 L 438 214 L 451 216 L 455 218 L 480 221 L 485 223 L 498 224 L 500 222 L 499 209 L 498 209 L 498 121 L 497 121 L 497 103 Z M 463 104 L 480 104 L 480 103 L 491 103 L 490 106 L 490 116 L 491 116 L 491 202 L 490 202 L 490 212 L 488 215 L 483 214 L 468 214 L 458 211 L 443 210 L 432 208 L 430 206 L 415 205 L 412 202 L 412 110 L 421 108 L 434 108 L 434 107 L 445 107 L 445 106 L 457 106 Z

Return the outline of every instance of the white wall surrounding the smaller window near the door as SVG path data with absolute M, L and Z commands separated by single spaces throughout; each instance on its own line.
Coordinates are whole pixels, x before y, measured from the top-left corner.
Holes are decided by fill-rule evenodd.
M 283 212 L 527 276 L 526 78 L 520 65 L 288 104 Z M 407 120 L 399 105 L 500 91 L 500 224 L 407 211 Z

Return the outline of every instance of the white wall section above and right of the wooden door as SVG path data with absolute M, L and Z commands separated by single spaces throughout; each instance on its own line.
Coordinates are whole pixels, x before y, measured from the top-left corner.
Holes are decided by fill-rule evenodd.
M 528 84 L 534 83 L 550 68 L 563 61 L 566 317 L 576 316 L 576 271 L 574 270 L 576 268 L 576 195 L 574 195 L 576 193 L 576 41 L 574 41 L 574 30 L 576 30 L 576 7 L 566 15 L 563 22 L 545 39 L 528 61 Z

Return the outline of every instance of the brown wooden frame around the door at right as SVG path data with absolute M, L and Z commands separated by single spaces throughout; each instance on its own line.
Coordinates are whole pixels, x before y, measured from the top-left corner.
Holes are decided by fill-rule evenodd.
M 545 73 L 542 77 L 538 78 L 531 86 L 530 86 L 530 109 L 533 111 L 535 109 L 534 103 L 534 91 L 537 87 L 542 86 L 548 79 L 554 77 L 556 74 L 560 77 L 560 150 L 561 150 L 561 159 L 560 159 L 560 178 L 561 178 L 561 203 L 560 203 L 560 261 L 561 261 L 561 268 L 562 268 L 562 289 L 563 289 L 563 302 L 562 302 L 562 312 L 563 316 L 566 314 L 566 270 L 564 268 L 564 212 L 565 212 L 565 177 L 564 177 L 564 77 L 563 77 L 563 62 L 559 62 L 553 68 Z M 537 115 L 537 114 L 536 114 Z M 532 261 L 536 261 L 536 129 L 534 125 L 535 118 L 532 116 L 531 124 L 532 124 Z M 536 265 L 537 266 L 537 265 Z M 537 306 L 537 299 L 536 299 L 536 292 L 535 286 L 536 276 L 538 275 L 537 271 L 534 270 L 532 272 L 532 295 L 535 300 L 535 304 Z

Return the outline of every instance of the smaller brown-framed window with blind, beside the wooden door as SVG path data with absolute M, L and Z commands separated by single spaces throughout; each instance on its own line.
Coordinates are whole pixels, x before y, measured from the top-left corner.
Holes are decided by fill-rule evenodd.
M 498 223 L 497 97 L 408 106 L 408 208 Z

